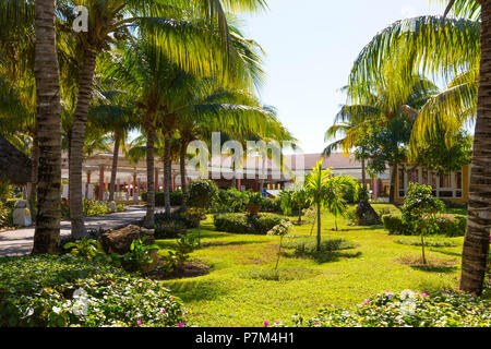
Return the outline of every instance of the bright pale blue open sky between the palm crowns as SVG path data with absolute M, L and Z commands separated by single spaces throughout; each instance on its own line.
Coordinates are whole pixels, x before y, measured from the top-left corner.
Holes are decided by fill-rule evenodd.
M 260 92 L 304 153 L 324 148 L 352 62 L 388 24 L 442 14 L 429 0 L 268 0 L 270 10 L 246 19 L 244 33 L 266 51 L 267 79 Z

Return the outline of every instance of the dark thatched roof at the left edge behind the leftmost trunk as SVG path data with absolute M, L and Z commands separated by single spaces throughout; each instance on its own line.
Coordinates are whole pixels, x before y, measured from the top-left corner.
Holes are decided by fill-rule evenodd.
M 26 184 L 31 182 L 31 171 L 29 157 L 0 137 L 0 182 Z

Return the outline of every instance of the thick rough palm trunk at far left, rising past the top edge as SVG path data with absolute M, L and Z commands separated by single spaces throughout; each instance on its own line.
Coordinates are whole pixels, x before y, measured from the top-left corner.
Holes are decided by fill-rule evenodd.
M 61 100 L 55 0 L 36 0 L 35 61 L 39 167 L 33 254 L 56 254 L 60 238 Z

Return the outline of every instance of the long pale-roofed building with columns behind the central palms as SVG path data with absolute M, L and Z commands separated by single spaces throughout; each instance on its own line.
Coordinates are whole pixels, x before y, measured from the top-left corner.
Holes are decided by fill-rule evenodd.
M 83 195 L 87 200 L 107 200 L 112 153 L 103 152 L 84 159 Z M 214 157 L 208 161 L 206 174 L 187 164 L 187 178 L 181 179 L 179 163 L 172 161 L 171 190 L 178 190 L 182 181 L 191 183 L 199 178 L 208 178 L 216 182 L 218 188 L 228 189 L 236 186 L 240 191 L 260 191 L 261 188 L 274 195 L 277 191 L 289 189 L 296 180 L 302 180 L 315 164 L 322 158 L 322 154 L 286 155 L 283 159 L 283 168 L 271 159 L 262 160 L 261 157 L 249 157 L 242 164 L 233 164 L 232 157 Z M 62 178 L 69 178 L 68 155 L 62 156 Z M 361 182 L 361 164 L 352 156 L 333 154 L 323 159 L 323 169 L 331 168 L 335 174 L 351 176 Z M 236 173 L 236 176 L 233 176 Z M 142 191 L 146 191 L 146 160 L 130 161 L 121 152 L 118 158 L 118 171 L 116 178 L 116 201 L 135 201 Z M 378 179 L 367 178 L 367 185 L 372 196 L 379 200 L 388 200 L 390 172 L 383 173 Z M 155 161 L 155 184 L 158 191 L 164 190 L 164 164 Z M 63 185 L 64 198 L 68 197 L 68 184 Z

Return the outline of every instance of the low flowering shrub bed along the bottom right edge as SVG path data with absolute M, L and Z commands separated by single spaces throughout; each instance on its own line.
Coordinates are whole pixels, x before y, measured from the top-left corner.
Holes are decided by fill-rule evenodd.
M 294 327 L 491 327 L 490 300 L 458 292 L 432 296 L 410 290 L 385 291 L 354 311 L 322 309 L 315 317 L 295 315 L 273 326 Z

